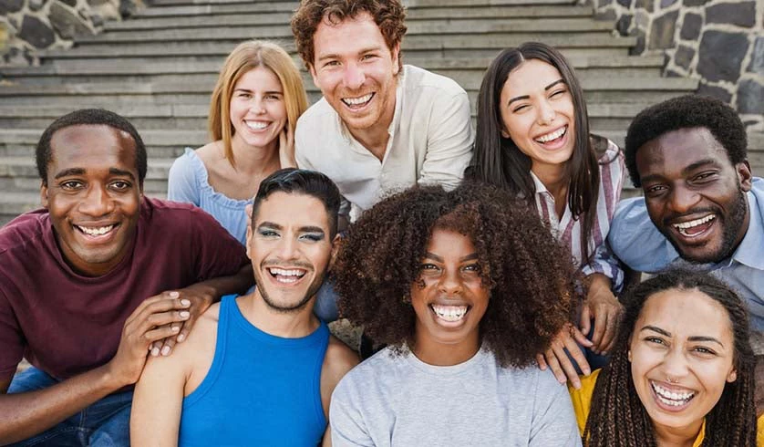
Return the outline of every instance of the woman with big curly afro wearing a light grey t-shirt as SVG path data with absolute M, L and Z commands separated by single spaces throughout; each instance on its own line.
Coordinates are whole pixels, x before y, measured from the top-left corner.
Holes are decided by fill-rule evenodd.
M 570 318 L 573 262 L 510 192 L 415 187 L 350 227 L 340 313 L 387 344 L 338 384 L 335 446 L 576 446 L 567 390 L 535 355 Z

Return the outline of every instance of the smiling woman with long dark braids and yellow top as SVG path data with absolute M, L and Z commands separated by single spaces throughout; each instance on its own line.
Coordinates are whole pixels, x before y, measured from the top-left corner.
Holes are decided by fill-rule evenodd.
M 622 297 L 610 363 L 570 388 L 587 447 L 753 447 L 746 307 L 718 279 L 669 271 Z

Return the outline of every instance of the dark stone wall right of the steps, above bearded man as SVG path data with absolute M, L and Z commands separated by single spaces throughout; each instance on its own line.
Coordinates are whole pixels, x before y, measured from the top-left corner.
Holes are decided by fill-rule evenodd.
M 738 110 L 764 130 L 764 0 L 584 0 L 635 54 L 666 54 L 669 77 L 700 79 L 698 93 Z

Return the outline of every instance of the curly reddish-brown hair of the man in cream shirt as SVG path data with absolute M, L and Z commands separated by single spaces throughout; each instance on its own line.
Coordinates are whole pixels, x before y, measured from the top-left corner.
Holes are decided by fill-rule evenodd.
M 336 25 L 363 12 L 374 18 L 385 37 L 387 47 L 392 51 L 406 34 L 406 26 L 403 24 L 406 9 L 400 0 L 302 0 L 292 16 L 292 34 L 297 53 L 303 58 L 305 67 L 311 68 L 315 63 L 313 36 L 324 17 Z M 403 68 L 400 53 L 397 60 L 400 72 Z

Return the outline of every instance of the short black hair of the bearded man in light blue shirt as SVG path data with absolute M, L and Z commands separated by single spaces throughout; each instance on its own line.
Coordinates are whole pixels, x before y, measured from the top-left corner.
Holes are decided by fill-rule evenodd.
M 748 158 L 746 128 L 734 109 L 718 99 L 698 95 L 668 99 L 639 112 L 626 132 L 626 168 L 635 187 L 642 185 L 636 171 L 636 151 L 647 141 L 687 128 L 709 130 L 732 164 Z

